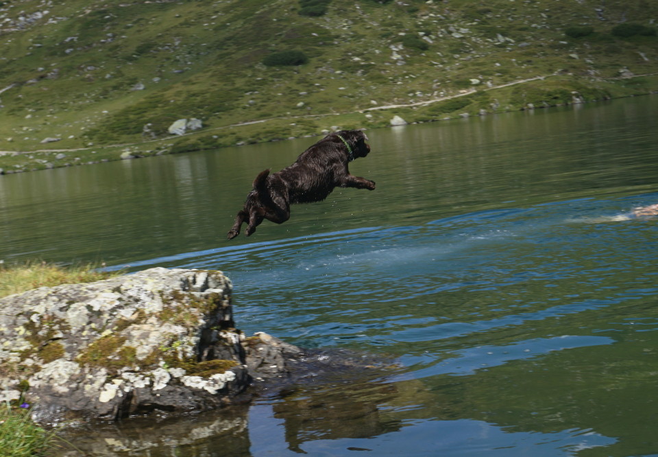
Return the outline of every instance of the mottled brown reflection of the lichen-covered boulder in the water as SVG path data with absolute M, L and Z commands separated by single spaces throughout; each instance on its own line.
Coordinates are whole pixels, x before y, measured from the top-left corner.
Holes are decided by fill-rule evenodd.
M 250 407 L 82 425 L 60 434 L 77 449 L 62 445 L 55 455 L 249 456 L 284 455 L 283 449 L 306 454 L 302 448 L 310 441 L 373 438 L 400 430 L 386 406 L 397 393 L 395 384 L 354 379 L 335 386 L 291 386 Z

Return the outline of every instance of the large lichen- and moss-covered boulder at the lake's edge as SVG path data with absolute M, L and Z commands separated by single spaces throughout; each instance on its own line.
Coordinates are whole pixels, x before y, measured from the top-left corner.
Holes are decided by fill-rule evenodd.
M 234 328 L 219 271 L 152 268 L 0 299 L 0 401 L 38 423 L 199 411 L 243 401 L 301 349 Z

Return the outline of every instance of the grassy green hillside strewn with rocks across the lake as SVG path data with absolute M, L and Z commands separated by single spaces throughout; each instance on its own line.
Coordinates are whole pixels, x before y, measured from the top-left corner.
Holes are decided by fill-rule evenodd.
M 0 168 L 648 93 L 655 19 L 650 0 L 0 0 Z

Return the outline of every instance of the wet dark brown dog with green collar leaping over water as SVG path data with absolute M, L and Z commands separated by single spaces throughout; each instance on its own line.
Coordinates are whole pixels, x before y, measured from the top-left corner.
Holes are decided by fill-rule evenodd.
M 352 176 L 348 163 L 365 157 L 370 146 L 361 130 L 341 130 L 330 133 L 297 157 L 297 161 L 278 173 L 269 169 L 260 172 L 254 180 L 254 190 L 247 195 L 245 207 L 235 218 L 228 239 L 240 233 L 243 222 L 248 221 L 245 234 L 251 235 L 263 219 L 277 224 L 290 218 L 291 203 L 319 202 L 334 187 L 375 188 L 374 181 Z

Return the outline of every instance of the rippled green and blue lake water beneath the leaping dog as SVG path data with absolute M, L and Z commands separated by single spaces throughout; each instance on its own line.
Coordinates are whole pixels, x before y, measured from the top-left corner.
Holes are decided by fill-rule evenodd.
M 92 455 L 658 454 L 658 96 L 369 130 L 337 189 L 225 239 L 253 178 L 317 139 L 0 176 L 0 259 L 223 270 L 236 322 L 395 358 Z M 73 454 L 71 454 L 73 455 Z

